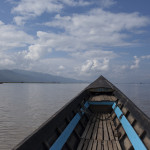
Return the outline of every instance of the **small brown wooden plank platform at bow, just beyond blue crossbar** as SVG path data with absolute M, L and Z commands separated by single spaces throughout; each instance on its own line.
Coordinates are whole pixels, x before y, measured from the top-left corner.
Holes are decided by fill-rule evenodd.
M 117 98 L 115 96 L 108 96 L 108 95 L 98 95 L 91 98 L 91 101 L 116 101 Z

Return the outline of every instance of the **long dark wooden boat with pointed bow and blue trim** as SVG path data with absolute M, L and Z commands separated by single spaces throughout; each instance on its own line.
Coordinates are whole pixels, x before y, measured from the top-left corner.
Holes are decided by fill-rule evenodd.
M 15 150 L 148 150 L 150 119 L 103 76 Z

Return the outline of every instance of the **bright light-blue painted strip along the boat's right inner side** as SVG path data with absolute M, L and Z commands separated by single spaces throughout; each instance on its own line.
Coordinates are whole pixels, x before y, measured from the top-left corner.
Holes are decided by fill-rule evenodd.
M 113 104 L 112 108 L 114 109 L 118 119 L 120 120 L 129 140 L 131 141 L 133 147 L 135 150 L 147 150 L 147 148 L 145 147 L 145 145 L 143 144 L 143 142 L 141 141 L 141 139 L 139 138 L 139 136 L 137 135 L 137 133 L 135 132 L 135 130 L 133 129 L 133 127 L 131 126 L 131 124 L 129 123 L 129 121 L 126 119 L 126 117 L 123 115 L 122 111 L 120 110 L 120 108 L 117 106 L 116 107 L 116 103 Z M 120 117 L 122 116 L 122 117 Z

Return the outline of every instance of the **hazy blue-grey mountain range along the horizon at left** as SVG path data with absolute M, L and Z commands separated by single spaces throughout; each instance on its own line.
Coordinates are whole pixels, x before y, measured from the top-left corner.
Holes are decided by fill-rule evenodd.
M 26 70 L 0 70 L 0 82 L 80 83 L 81 80 L 64 78 Z

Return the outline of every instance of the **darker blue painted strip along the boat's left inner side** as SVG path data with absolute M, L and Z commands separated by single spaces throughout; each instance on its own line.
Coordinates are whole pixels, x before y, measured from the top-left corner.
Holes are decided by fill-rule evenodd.
M 85 108 L 89 107 L 88 102 L 86 102 L 84 104 L 84 107 Z M 82 111 L 83 109 L 80 109 L 80 110 Z M 83 114 L 84 114 L 84 111 L 82 111 L 82 115 Z M 64 144 L 66 143 L 66 141 L 68 140 L 69 136 L 73 132 L 74 128 L 76 127 L 76 125 L 80 121 L 80 119 L 81 119 L 81 115 L 79 113 L 77 113 L 73 117 L 73 119 L 70 121 L 70 123 L 68 124 L 68 126 L 61 133 L 61 135 L 58 137 L 58 139 L 55 141 L 55 143 L 50 147 L 49 150 L 61 150 L 62 147 L 64 146 Z

